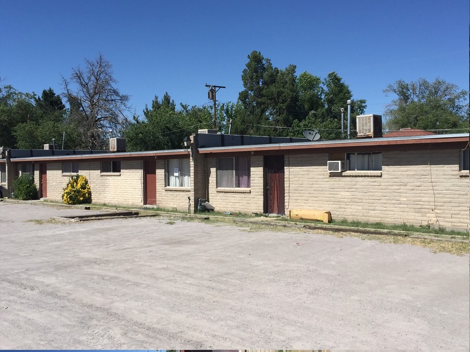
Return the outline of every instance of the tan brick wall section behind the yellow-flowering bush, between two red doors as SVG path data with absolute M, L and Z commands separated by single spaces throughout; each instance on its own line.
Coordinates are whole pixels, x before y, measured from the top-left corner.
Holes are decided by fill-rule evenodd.
M 93 203 L 141 206 L 142 164 L 141 160 L 121 161 L 119 176 L 104 176 L 99 161 L 80 162 L 79 174 L 88 178 Z M 62 175 L 62 163 L 47 164 L 47 199 L 62 201 L 62 192 L 68 180 L 69 176 Z

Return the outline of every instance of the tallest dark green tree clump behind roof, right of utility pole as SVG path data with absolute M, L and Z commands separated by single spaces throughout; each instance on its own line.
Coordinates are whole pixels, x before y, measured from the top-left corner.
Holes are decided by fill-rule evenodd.
M 259 51 L 248 55 L 234 133 L 300 137 L 303 130 L 318 129 L 325 139 L 341 138 L 340 108 L 352 99 L 351 89 L 336 72 L 322 81 L 308 72 L 297 77 L 295 70 L 273 67 Z M 355 100 L 352 117 L 364 110 L 365 100 Z

